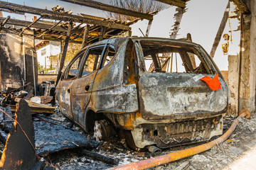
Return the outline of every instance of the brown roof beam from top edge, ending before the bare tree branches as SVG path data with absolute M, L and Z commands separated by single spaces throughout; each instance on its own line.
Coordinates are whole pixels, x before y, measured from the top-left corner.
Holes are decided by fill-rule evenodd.
M 137 18 L 143 18 L 143 19 L 147 19 L 147 20 L 153 19 L 153 16 L 151 16 L 148 13 L 139 13 L 137 11 L 128 10 L 126 8 L 119 8 L 117 6 L 102 4 L 97 1 L 91 1 L 91 0 L 60 0 L 60 1 L 66 1 L 66 2 L 73 3 L 73 4 L 79 4 L 82 6 L 89 6 L 91 8 L 97 8 L 97 9 L 100 9 L 103 11 L 109 11 L 112 13 L 119 13 L 119 14 L 126 15 L 126 16 L 134 16 Z

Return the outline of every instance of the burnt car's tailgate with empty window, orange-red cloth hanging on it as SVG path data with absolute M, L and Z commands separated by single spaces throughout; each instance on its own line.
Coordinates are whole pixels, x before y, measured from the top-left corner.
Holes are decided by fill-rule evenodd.
M 144 69 L 139 73 L 142 118 L 197 118 L 225 113 L 228 85 L 206 52 L 188 42 L 141 40 Z M 221 89 L 212 91 L 196 77 L 220 74 Z

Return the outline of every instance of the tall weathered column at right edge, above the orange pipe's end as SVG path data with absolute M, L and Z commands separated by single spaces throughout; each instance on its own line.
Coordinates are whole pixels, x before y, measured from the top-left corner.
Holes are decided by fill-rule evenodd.
M 242 35 L 240 52 L 239 111 L 246 108 L 255 111 L 256 79 L 256 18 L 255 1 L 251 1 L 251 14 L 242 15 Z

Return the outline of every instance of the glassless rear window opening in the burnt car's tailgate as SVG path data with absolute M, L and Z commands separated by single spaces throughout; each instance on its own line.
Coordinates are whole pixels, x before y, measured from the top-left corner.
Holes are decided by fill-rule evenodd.
M 147 72 L 210 74 L 199 52 L 188 45 L 140 41 Z

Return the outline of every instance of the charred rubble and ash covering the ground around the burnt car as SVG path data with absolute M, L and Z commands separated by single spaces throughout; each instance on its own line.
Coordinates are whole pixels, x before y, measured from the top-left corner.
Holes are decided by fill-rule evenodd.
M 14 112 L 12 111 L 16 110 L 14 104 L 20 101 L 21 98 L 31 98 L 33 96 L 29 89 L 3 94 L 0 101 L 4 100 L 6 104 L 1 109 L 13 118 Z M 37 111 L 37 114 L 33 114 L 33 123 L 36 132 L 36 152 L 43 157 L 43 163 L 39 162 L 35 166 L 47 166 L 48 168 L 54 166 L 57 169 L 108 169 L 113 167 L 114 164 L 122 165 L 137 162 L 201 144 L 172 147 L 150 153 L 146 149 L 139 151 L 129 149 L 127 147 L 128 141 L 117 136 L 111 138 L 108 142 L 97 143 L 92 139 L 91 135 L 84 135 L 84 132 L 78 126 L 73 125 L 70 120 L 60 113 L 58 103 L 55 104 L 55 107 L 52 107 L 51 103 L 48 103 L 48 101 L 53 100 L 52 96 L 38 96 L 38 98 L 40 98 L 40 103 L 33 103 L 32 101 L 26 100 L 31 110 L 36 109 L 34 111 Z M 48 104 L 41 104 L 41 101 L 47 101 Z M 35 108 L 35 106 L 38 106 L 38 108 Z M 47 108 L 49 107 L 52 109 L 51 113 L 55 114 L 47 113 Z M 224 131 L 230 127 L 233 119 L 234 116 L 232 115 L 225 116 L 225 122 L 223 124 Z M 223 144 L 213 147 L 208 152 L 203 152 L 169 164 L 156 166 L 154 169 L 193 170 L 228 168 L 230 162 L 238 159 L 245 151 L 256 145 L 255 120 L 254 113 L 252 113 L 250 120 L 240 119 L 241 123 L 238 124 L 238 128 L 233 135 Z M 0 112 L 1 148 L 4 148 L 8 133 L 12 128 L 11 124 L 13 124 L 13 120 Z M 214 138 L 211 140 L 214 140 Z M 51 162 L 51 165 L 46 165 L 47 163 L 45 161 Z

